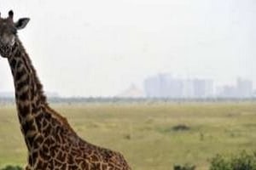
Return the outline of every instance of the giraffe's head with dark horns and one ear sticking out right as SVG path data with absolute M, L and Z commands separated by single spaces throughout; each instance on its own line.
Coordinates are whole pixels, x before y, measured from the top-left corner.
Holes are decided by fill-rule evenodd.
M 14 12 L 9 11 L 7 18 L 1 18 L 0 14 L 0 55 L 4 58 L 9 58 L 12 47 L 15 44 L 17 31 L 25 28 L 29 18 L 21 18 L 14 22 Z

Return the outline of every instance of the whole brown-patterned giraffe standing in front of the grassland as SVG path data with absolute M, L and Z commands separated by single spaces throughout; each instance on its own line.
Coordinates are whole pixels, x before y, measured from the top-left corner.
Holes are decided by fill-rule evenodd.
M 28 151 L 26 170 L 131 170 L 124 156 L 81 139 L 67 119 L 49 107 L 43 86 L 17 31 L 29 18 L 14 22 L 0 14 L 0 55 L 8 59 L 15 84 L 20 129 Z

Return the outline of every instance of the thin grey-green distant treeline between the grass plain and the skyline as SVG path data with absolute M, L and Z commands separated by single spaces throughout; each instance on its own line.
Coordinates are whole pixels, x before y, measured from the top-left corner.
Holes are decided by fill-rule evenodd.
M 49 103 L 158 103 L 158 102 L 242 102 L 256 101 L 256 98 L 237 99 L 237 98 L 199 98 L 199 99 L 164 99 L 164 98 L 49 98 Z M 0 98 L 0 104 L 14 104 L 14 98 Z

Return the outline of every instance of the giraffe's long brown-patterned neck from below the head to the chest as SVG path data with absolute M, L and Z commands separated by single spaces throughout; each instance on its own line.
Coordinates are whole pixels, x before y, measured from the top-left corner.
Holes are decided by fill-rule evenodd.
M 18 37 L 9 57 L 9 65 L 15 82 L 15 100 L 21 131 L 28 150 L 31 150 L 33 141 L 40 134 L 36 117 L 47 103 L 31 59 Z

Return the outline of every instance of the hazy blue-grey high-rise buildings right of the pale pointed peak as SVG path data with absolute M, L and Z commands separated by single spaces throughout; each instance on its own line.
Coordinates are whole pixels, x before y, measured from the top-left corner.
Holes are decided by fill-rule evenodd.
M 237 79 L 235 86 L 215 88 L 210 79 L 181 79 L 170 74 L 159 74 L 144 80 L 144 91 L 148 98 L 251 98 L 253 82 Z

